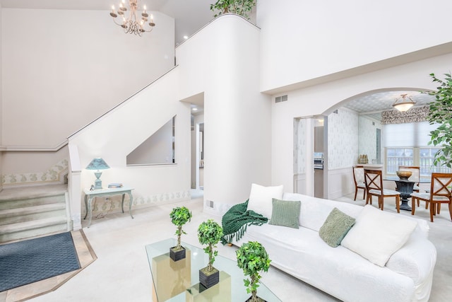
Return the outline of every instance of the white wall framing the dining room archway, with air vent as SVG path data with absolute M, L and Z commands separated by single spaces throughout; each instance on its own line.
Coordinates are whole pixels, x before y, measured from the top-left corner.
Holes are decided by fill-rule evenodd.
M 347 98 L 362 93 L 375 93 L 385 88 L 434 89 L 429 74 L 443 74 L 452 68 L 451 62 L 452 54 L 445 54 L 288 91 L 287 102 L 272 105 L 272 183 L 283 184 L 288 191 L 292 190 L 294 117 L 329 114 L 340 108 L 341 103 L 346 103 Z M 330 175 L 328 182 L 334 182 Z

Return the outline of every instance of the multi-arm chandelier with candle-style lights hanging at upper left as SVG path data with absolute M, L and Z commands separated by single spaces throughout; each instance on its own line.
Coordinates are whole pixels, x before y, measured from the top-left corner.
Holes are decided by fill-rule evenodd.
M 141 13 L 141 19 L 137 21 L 136 17 L 136 10 L 138 8 L 138 0 L 129 0 L 129 17 L 126 17 L 126 0 L 122 0 L 119 4 L 118 11 L 114 11 L 114 6 L 112 6 L 112 12 L 110 13 L 110 16 L 113 17 L 113 21 L 115 24 L 121 26 L 121 28 L 124 28 L 124 33 L 133 33 L 135 35 L 141 35 L 144 32 L 150 32 L 153 30 L 155 23 L 153 20 L 153 15 L 150 15 L 150 22 L 149 28 L 145 28 L 146 22 L 148 22 L 148 13 L 146 13 L 146 6 L 143 6 L 143 13 Z M 122 23 L 117 23 L 115 20 L 117 16 L 122 17 Z

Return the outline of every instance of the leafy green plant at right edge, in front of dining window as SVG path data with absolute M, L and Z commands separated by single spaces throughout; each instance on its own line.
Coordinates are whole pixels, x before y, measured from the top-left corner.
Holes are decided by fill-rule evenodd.
M 438 83 L 436 91 L 424 92 L 434 95 L 434 102 L 430 103 L 429 122 L 440 124 L 430 132 L 429 144 L 441 146 L 434 155 L 434 165 L 446 165 L 452 168 L 452 78 L 451 74 L 444 74 L 444 80 L 430 74 L 432 81 Z

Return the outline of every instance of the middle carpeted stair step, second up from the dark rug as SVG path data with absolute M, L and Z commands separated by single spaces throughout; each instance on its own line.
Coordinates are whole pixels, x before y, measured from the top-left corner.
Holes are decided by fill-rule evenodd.
M 25 222 L 35 219 L 44 219 L 52 216 L 66 214 L 66 204 L 58 202 L 56 204 L 42 204 L 32 207 L 0 210 L 0 225 L 8 223 Z

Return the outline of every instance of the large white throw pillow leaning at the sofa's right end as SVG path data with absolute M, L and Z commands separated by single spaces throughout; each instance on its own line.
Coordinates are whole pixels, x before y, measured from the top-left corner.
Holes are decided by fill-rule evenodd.
M 381 211 L 368 204 L 340 244 L 384 267 L 389 257 L 407 242 L 416 225 L 415 220 Z

